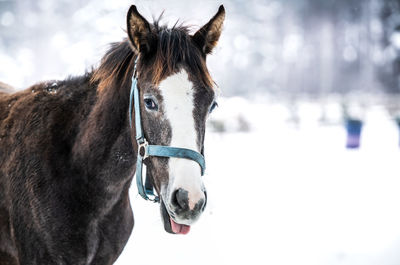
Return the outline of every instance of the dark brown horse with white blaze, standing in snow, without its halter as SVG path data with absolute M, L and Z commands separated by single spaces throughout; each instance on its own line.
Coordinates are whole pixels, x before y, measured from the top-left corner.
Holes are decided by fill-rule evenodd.
M 140 115 L 148 147 L 204 154 L 217 104 L 206 57 L 224 18 L 220 6 L 190 34 L 149 23 L 133 5 L 127 37 L 97 68 L 0 93 L 1 265 L 113 264 L 134 226 L 128 190 L 139 158 L 165 231 L 189 232 L 207 201 L 198 163 L 141 154 L 130 117 Z

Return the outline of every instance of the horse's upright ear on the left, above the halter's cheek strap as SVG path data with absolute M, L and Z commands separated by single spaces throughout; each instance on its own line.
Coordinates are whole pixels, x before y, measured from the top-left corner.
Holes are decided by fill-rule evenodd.
M 137 52 L 149 52 L 151 28 L 149 22 L 137 11 L 135 5 L 129 8 L 127 19 L 128 36 Z

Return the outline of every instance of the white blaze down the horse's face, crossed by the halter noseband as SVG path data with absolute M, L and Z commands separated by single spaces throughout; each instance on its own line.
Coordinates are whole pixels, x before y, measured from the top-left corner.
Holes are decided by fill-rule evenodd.
M 161 82 L 160 91 L 164 99 L 165 116 L 172 130 L 170 146 L 198 150 L 197 132 L 193 118 L 193 85 L 188 74 L 182 70 Z M 189 207 L 204 198 L 200 166 L 191 160 L 169 159 L 169 183 L 167 196 L 183 188 L 189 192 Z

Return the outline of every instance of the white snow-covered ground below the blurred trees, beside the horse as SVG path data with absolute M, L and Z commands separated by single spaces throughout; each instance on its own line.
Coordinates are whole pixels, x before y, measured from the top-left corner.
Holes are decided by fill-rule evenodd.
M 215 111 L 246 110 L 252 130 L 208 133 L 208 206 L 187 236 L 167 234 L 132 186 L 136 223 L 117 264 L 399 264 L 398 131 L 383 109 L 368 111 L 362 147 L 349 151 L 315 104 L 300 107 L 297 128 L 281 105 L 248 104 Z

